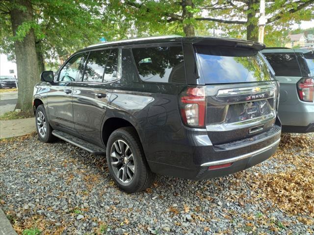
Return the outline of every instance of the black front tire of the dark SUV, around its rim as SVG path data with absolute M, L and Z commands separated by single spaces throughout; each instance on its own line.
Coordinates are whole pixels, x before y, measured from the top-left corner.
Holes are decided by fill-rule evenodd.
M 46 125 L 46 131 L 45 131 L 45 135 L 42 135 L 43 132 L 40 131 L 40 125 L 39 125 L 39 116 L 41 116 L 41 114 L 44 116 L 44 121 L 45 121 L 45 125 Z M 52 142 L 55 140 L 55 137 L 52 135 L 52 127 L 49 124 L 48 118 L 47 118 L 47 114 L 46 114 L 46 110 L 43 104 L 39 105 L 36 109 L 36 113 L 35 113 L 35 125 L 36 125 L 36 130 L 38 133 L 38 137 L 41 141 L 43 142 Z

